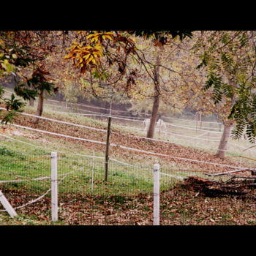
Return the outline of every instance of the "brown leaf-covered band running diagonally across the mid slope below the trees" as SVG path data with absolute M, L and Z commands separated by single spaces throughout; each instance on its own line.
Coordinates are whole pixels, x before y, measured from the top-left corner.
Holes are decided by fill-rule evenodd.
M 27 111 L 29 112 L 29 111 Z M 45 117 L 48 118 L 57 118 L 62 121 L 69 121 L 74 123 L 72 118 L 63 117 L 59 114 L 54 114 L 54 116 L 44 113 Z M 95 131 L 91 129 L 84 129 L 82 127 L 74 127 L 72 125 L 68 124 L 56 124 L 53 121 L 48 120 L 40 120 L 39 124 L 34 124 L 32 121 L 32 118 L 29 116 L 22 116 L 22 118 L 15 119 L 15 124 L 20 124 L 26 127 L 31 127 L 35 129 L 42 129 L 46 130 L 48 132 L 56 132 L 63 135 L 72 135 L 74 137 L 78 138 L 86 138 L 89 140 L 97 140 L 101 142 L 105 142 L 106 140 L 106 133 L 101 131 Z M 81 122 L 78 122 L 78 124 L 83 124 Z M 105 129 L 104 124 L 87 124 L 84 123 L 87 126 L 91 126 L 94 128 L 100 128 Z M 13 129 L 13 127 L 12 127 Z M 14 129 L 15 130 L 15 129 Z M 16 133 L 20 132 L 20 136 L 26 136 L 26 133 L 29 134 L 29 136 L 32 136 L 31 138 L 37 139 L 37 140 L 43 140 L 42 134 L 34 132 L 27 132 L 21 129 L 17 129 Z M 151 151 L 154 153 L 160 153 L 160 154 L 167 154 L 172 157 L 159 157 L 159 160 L 162 161 L 162 163 L 168 163 L 171 162 L 172 165 L 183 165 L 186 167 L 189 167 L 190 170 L 200 171 L 203 170 L 203 172 L 206 173 L 216 173 L 216 172 L 223 172 L 230 170 L 230 167 L 222 166 L 222 165 L 236 165 L 237 162 L 235 162 L 235 159 L 225 158 L 220 159 L 219 157 L 215 156 L 214 154 L 210 154 L 203 150 L 198 150 L 195 148 L 189 148 L 185 146 L 179 146 L 175 143 L 162 143 L 159 141 L 151 141 L 151 140 L 144 140 L 142 138 L 135 138 L 131 137 L 131 132 L 123 132 L 119 131 L 118 129 L 112 129 L 112 132 L 115 132 L 115 134 L 110 136 L 110 143 L 115 143 L 117 145 L 121 146 L 127 146 L 132 148 L 137 148 L 143 151 Z M 13 132 L 12 132 L 13 133 Z M 36 136 L 34 138 L 33 136 Z M 56 135 L 47 135 L 49 138 L 60 138 Z M 73 140 L 70 138 L 60 138 L 61 142 L 65 144 L 66 142 L 74 143 L 75 146 L 80 148 L 88 148 L 91 151 L 98 151 L 98 152 L 105 152 L 105 145 L 97 144 L 97 143 L 90 143 L 90 142 L 84 142 L 80 140 Z M 44 142 L 45 143 L 45 142 Z M 120 149 L 118 147 L 110 147 L 110 157 L 121 157 L 121 159 L 126 159 L 127 162 L 131 162 L 133 160 L 137 160 L 137 162 L 145 161 L 148 162 L 156 159 L 155 156 L 150 154 L 143 154 L 140 152 L 135 152 L 131 150 L 124 150 Z M 191 162 L 186 161 L 184 159 L 177 159 L 175 157 L 181 157 L 181 158 L 187 158 L 187 159 L 195 159 L 200 162 Z M 214 162 L 221 165 L 209 165 L 208 162 Z M 248 165 L 239 164 L 240 167 L 248 167 Z

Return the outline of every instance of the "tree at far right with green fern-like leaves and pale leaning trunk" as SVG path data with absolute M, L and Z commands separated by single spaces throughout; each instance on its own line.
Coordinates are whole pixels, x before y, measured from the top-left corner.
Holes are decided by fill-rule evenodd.
M 200 51 L 201 63 L 207 80 L 204 90 L 212 89 L 214 104 L 224 99 L 230 102 L 225 129 L 219 144 L 219 157 L 225 156 L 231 126 L 235 139 L 241 138 L 244 129 L 251 143 L 255 143 L 255 32 L 254 31 L 203 31 L 195 46 Z

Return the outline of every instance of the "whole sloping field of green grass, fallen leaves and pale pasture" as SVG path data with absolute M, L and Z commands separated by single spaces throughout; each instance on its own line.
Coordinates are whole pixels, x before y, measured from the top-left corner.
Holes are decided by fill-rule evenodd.
M 37 102 L 35 102 L 36 105 Z M 35 109 L 35 107 L 26 106 L 24 112 L 35 113 Z M 79 110 L 45 105 L 42 116 L 97 129 L 107 128 L 108 117 L 74 115 L 72 112 L 78 113 Z M 48 132 L 97 140 L 99 142 L 105 142 L 106 138 L 106 132 L 72 127 L 67 124 L 54 123 L 53 121 L 40 120 L 39 124 L 35 126 L 31 123 L 31 118 L 28 116 L 22 116 L 15 123 L 47 130 Z M 214 131 L 214 129 L 200 131 L 195 129 L 193 123 L 189 124 L 188 122 L 179 122 L 173 119 L 170 124 L 175 124 L 177 127 L 169 126 L 167 132 L 170 132 L 170 134 L 156 134 L 155 139 L 157 140 L 145 140 L 141 138 L 146 135 L 142 124 L 142 122 L 112 118 L 110 143 L 167 154 L 173 156 L 173 158 L 160 157 L 154 154 L 140 154 L 139 152 L 126 151 L 122 148 L 110 147 L 107 182 L 104 181 L 105 145 L 61 138 L 56 135 L 12 127 L 12 125 L 1 125 L 0 181 L 12 182 L 1 182 L 0 188 L 3 192 L 7 193 L 6 195 L 10 198 L 10 202 L 15 206 L 20 206 L 44 194 L 50 189 L 50 152 L 56 151 L 59 155 L 59 197 L 61 198 L 60 215 L 62 215 L 60 221 L 55 223 L 55 225 L 78 223 L 83 225 L 85 223 L 86 225 L 105 225 L 106 223 L 112 223 L 112 225 L 134 225 L 137 222 L 140 225 L 151 225 L 153 165 L 159 162 L 161 166 L 160 189 L 163 225 L 172 225 L 173 223 L 175 225 L 197 225 L 198 223 L 204 225 L 232 225 L 234 223 L 254 225 L 253 216 L 243 221 L 236 217 L 235 222 L 235 219 L 227 217 L 232 214 L 226 214 L 226 217 L 224 217 L 224 213 L 222 214 L 223 216 L 218 215 L 218 217 L 213 217 L 212 215 L 206 217 L 204 212 L 199 214 L 200 208 L 203 208 L 202 202 L 205 200 L 203 195 L 199 195 L 193 200 L 195 193 L 177 188 L 177 186 L 182 184 L 183 178 L 188 176 L 209 178 L 207 173 L 219 173 L 230 170 L 225 165 L 254 167 L 255 159 L 252 151 L 254 148 L 251 151 L 241 152 L 244 148 L 250 146 L 249 143 L 245 140 L 230 140 L 230 145 L 227 148 L 227 157 L 225 160 L 222 160 L 214 157 L 221 135 L 208 132 Z M 178 127 L 186 127 L 186 125 L 188 128 L 194 128 Z M 206 140 L 200 140 L 200 138 Z M 243 157 L 240 157 L 241 153 Z M 184 161 L 183 159 L 177 159 L 177 157 L 195 159 L 197 162 Z M 211 165 L 211 163 L 216 163 L 217 165 Z M 225 181 L 228 177 L 211 177 L 211 179 Z M 74 197 L 74 195 L 76 196 Z M 190 198 L 190 196 L 192 197 Z M 178 204 L 181 198 L 183 198 L 182 200 L 186 198 L 188 206 L 197 210 L 193 212 L 187 211 L 189 208 L 186 209 L 184 202 L 180 205 Z M 220 202 L 223 203 L 224 199 L 219 200 L 219 203 L 217 203 L 217 200 L 215 201 L 215 206 L 218 208 L 221 207 Z M 39 223 L 48 225 L 52 223 L 50 222 L 49 202 L 50 193 L 46 194 L 38 203 L 34 203 L 34 208 L 30 205 L 20 209 L 20 219 L 16 218 L 10 222 L 12 223 L 10 225 L 15 225 L 15 223 L 20 223 L 18 225 L 40 225 Z M 75 206 L 71 206 L 71 202 L 75 205 L 77 204 L 75 202 L 83 202 L 80 203 L 80 206 L 83 207 L 74 208 Z M 236 203 L 239 207 L 237 212 L 240 212 L 243 206 L 240 201 Z M 219 205 L 217 206 L 217 204 Z M 250 205 L 252 206 L 252 204 Z M 46 207 L 45 205 L 47 205 L 48 210 L 41 212 L 42 208 Z M 199 205 L 200 207 L 197 208 Z M 84 210 L 84 207 L 87 207 L 87 210 Z M 37 214 L 37 217 L 34 217 L 33 221 L 33 218 L 30 218 L 30 214 L 35 211 L 35 208 L 40 213 Z M 174 208 L 176 209 L 175 211 Z M 205 210 L 207 211 L 207 209 Z M 71 211 L 75 211 L 74 214 L 77 222 L 74 218 L 72 219 L 74 215 L 71 214 Z M 83 211 L 87 215 L 83 215 L 81 213 Z M 108 214 L 106 212 L 109 211 L 112 215 L 110 214 L 107 220 Z M 85 216 L 92 218 L 92 213 L 95 214 L 95 217 L 89 221 Z M 119 216 L 120 219 L 117 221 L 114 215 Z M 129 218 L 127 220 L 124 216 L 127 218 L 135 216 L 135 219 L 140 216 L 140 220 L 135 221 Z M 196 216 L 197 218 L 195 219 Z M 42 222 L 38 222 L 40 218 Z M 8 219 L 7 214 L 4 214 L 1 219 L 2 222 L 0 220 L 0 223 L 6 223 Z M 99 219 L 102 220 L 99 221 Z M 214 219 L 214 222 L 212 222 L 212 219 Z

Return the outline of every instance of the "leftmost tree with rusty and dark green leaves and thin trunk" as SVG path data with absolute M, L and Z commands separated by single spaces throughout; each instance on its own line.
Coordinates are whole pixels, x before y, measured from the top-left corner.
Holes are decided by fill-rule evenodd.
M 45 75 L 49 77 L 48 70 L 53 68 L 53 63 L 56 61 L 49 56 L 58 54 L 61 47 L 62 50 L 67 47 L 64 44 L 69 39 L 67 33 L 65 31 L 1 31 L 0 39 L 0 62 L 1 67 L 5 69 L 4 75 L 12 73 L 15 76 L 15 94 L 23 97 L 24 100 L 31 102 L 39 96 L 37 114 L 41 115 L 44 91 L 50 93 L 56 91 L 58 87 L 53 86 L 53 78 L 45 77 Z M 51 80 L 50 83 L 48 80 Z M 21 103 L 17 105 L 14 94 L 12 102 L 16 104 L 16 108 L 9 106 L 7 117 L 3 121 L 12 121 L 15 112 L 24 105 Z M 8 104 L 12 103 L 8 102 Z

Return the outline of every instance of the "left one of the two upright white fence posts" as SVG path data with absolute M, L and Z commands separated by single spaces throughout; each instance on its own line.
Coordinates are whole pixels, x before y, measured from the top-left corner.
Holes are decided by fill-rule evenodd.
M 57 153 L 51 152 L 51 220 L 58 220 L 58 169 L 57 169 Z

